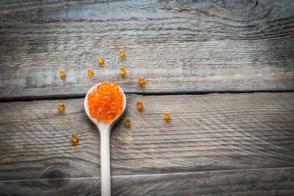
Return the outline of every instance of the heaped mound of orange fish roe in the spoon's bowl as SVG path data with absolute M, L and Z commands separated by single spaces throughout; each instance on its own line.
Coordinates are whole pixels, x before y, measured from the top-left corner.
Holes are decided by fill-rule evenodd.
M 123 111 L 123 93 L 117 83 L 102 82 L 88 95 L 90 115 L 109 122 Z

